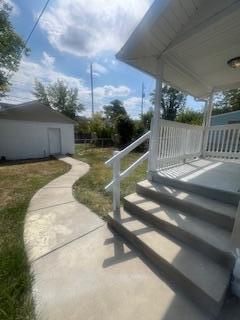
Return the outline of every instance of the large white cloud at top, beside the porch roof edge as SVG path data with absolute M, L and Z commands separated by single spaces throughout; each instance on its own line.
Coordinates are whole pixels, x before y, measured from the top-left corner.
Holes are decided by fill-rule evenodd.
M 52 46 L 76 56 L 118 51 L 151 0 L 56 0 L 40 26 Z

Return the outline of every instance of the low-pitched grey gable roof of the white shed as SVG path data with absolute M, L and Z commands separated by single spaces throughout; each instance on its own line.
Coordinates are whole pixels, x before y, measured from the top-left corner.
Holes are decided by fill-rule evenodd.
M 37 100 L 18 105 L 5 103 L 0 105 L 2 107 L 0 108 L 0 119 L 75 124 L 72 119 Z

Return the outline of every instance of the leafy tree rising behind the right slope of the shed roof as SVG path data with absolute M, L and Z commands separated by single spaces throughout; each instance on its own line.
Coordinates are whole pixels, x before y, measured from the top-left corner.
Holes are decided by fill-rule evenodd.
M 78 114 L 84 110 L 78 99 L 78 89 L 69 88 L 61 80 L 48 86 L 36 80 L 33 94 L 41 103 L 72 119 L 76 119 Z

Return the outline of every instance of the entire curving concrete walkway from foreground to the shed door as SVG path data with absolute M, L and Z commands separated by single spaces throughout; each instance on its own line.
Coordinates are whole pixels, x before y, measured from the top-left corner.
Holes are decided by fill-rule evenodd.
M 72 158 L 62 160 L 72 169 L 35 194 L 25 223 L 39 319 L 208 319 L 76 202 L 72 184 L 89 167 Z

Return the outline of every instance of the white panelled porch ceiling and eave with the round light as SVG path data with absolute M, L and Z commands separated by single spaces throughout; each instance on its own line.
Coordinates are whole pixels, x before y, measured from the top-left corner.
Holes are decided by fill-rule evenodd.
M 240 87 L 239 0 L 156 0 L 117 58 L 198 98 Z

